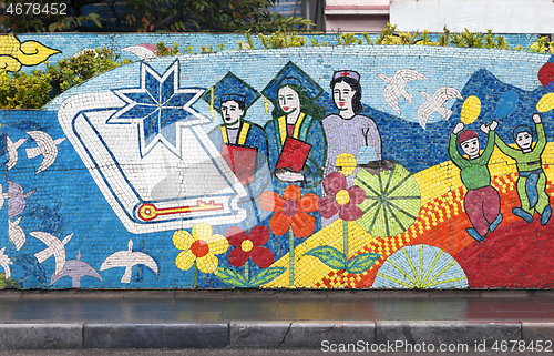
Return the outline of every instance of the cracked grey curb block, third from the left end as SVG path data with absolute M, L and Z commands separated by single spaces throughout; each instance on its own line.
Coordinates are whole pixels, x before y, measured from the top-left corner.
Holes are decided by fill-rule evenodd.
M 229 324 L 230 347 L 314 348 L 322 342 L 375 342 L 375 322 L 237 322 Z

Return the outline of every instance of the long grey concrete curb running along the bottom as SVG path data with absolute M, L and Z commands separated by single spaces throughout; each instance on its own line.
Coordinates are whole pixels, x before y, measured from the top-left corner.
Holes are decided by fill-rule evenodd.
M 359 321 L 0 324 L 0 348 L 321 349 L 329 344 L 469 344 L 554 338 L 553 322 Z

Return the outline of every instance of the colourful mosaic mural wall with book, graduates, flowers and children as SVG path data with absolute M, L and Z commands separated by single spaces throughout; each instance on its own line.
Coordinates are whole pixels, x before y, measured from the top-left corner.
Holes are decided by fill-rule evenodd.
M 13 70 L 73 54 L 7 38 Z M 2 287 L 554 286 L 554 58 L 133 51 L 0 111 Z

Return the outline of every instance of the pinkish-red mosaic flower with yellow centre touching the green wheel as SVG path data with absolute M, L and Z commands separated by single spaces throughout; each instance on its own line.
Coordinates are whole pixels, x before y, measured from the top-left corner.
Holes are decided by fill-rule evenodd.
M 329 218 L 339 213 L 343 221 L 355 221 L 363 216 L 361 208 L 355 204 L 361 204 L 366 200 L 366 192 L 358 185 L 347 190 L 347 181 L 342 173 L 334 172 L 324 181 L 324 191 L 327 196 L 318 201 L 319 213 Z

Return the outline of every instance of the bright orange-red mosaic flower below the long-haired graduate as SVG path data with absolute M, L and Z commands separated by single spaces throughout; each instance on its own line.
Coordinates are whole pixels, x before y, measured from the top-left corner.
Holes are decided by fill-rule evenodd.
M 269 221 L 269 228 L 276 235 L 285 235 L 293 226 L 296 237 L 311 236 L 316 230 L 316 218 L 307 213 L 317 211 L 318 196 L 308 193 L 300 197 L 300 187 L 289 185 L 285 189 L 283 197 L 275 192 L 264 192 L 260 197 L 263 210 L 275 212 Z

